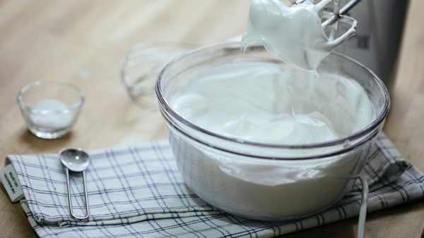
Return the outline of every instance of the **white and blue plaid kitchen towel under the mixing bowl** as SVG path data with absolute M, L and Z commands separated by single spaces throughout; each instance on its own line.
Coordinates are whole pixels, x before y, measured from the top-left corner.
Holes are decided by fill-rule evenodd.
M 25 194 L 20 201 L 40 237 L 273 237 L 351 218 L 360 185 L 332 208 L 301 220 L 266 222 L 218 211 L 184 184 L 167 141 L 90 151 L 86 173 L 90 217 L 69 216 L 64 168 L 57 155 L 8 156 Z M 363 174 L 368 211 L 424 197 L 424 176 L 379 134 Z M 81 177 L 71 175 L 75 210 L 83 214 Z

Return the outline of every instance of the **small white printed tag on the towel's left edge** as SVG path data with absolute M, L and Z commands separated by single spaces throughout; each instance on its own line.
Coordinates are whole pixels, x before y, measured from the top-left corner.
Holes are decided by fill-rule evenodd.
M 1 170 L 1 182 L 6 189 L 7 194 L 11 198 L 12 202 L 23 199 L 23 191 L 20 187 L 18 176 L 16 175 L 13 165 L 9 163 Z

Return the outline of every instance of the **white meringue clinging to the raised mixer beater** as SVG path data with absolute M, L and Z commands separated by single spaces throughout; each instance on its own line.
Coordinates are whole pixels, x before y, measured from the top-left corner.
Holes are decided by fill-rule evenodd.
M 289 7 L 278 0 L 253 0 L 242 48 L 261 42 L 267 51 L 285 63 L 316 72 L 322 59 L 356 32 L 354 21 L 337 39 L 330 40 L 326 36 L 320 15 L 329 3 L 331 0 L 322 0 L 316 5 L 304 1 Z

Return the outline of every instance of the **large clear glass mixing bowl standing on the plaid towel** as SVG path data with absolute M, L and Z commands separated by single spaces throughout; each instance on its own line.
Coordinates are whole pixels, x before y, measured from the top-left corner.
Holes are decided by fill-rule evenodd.
M 375 120 L 363 130 L 317 144 L 267 144 L 216 134 L 184 118 L 167 99 L 214 65 L 268 62 L 286 67 L 263 46 L 240 42 L 213 44 L 168 63 L 156 82 L 159 108 L 184 182 L 201 199 L 223 211 L 258 220 L 286 220 L 312 215 L 341 199 L 367 162 L 389 111 L 389 93 L 364 65 L 332 53 L 319 70 L 358 81 L 372 102 Z

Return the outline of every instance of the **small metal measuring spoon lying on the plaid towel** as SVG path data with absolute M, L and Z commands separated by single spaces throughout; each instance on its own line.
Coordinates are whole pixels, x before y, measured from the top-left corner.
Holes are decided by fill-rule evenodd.
M 78 220 L 84 220 L 88 218 L 88 196 L 87 196 L 87 186 L 86 186 L 86 170 L 88 164 L 90 163 L 88 154 L 79 148 L 65 148 L 59 151 L 60 161 L 66 167 L 66 185 L 68 186 L 68 201 L 69 201 L 69 211 L 71 211 L 71 216 Z M 83 183 L 84 183 L 84 195 L 86 196 L 86 216 L 78 217 L 72 212 L 72 201 L 71 201 L 71 189 L 69 186 L 69 170 L 73 172 L 82 172 L 83 173 Z

